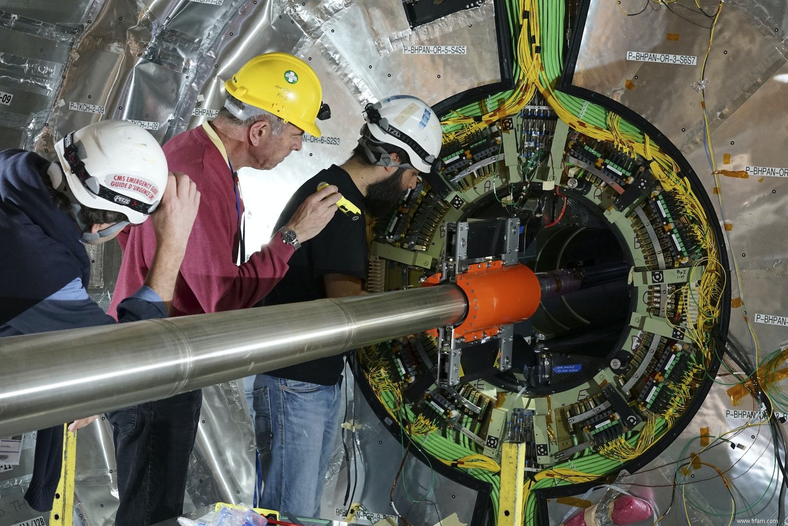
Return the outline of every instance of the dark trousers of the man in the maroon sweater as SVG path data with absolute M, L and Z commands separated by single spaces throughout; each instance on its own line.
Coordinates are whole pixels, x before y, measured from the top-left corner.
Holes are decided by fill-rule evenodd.
M 115 526 L 147 526 L 183 513 L 203 391 L 108 412 L 121 504 Z

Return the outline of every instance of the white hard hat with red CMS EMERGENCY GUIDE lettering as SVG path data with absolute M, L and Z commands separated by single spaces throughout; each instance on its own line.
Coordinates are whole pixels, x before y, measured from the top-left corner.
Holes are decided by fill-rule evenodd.
M 83 206 L 118 211 L 141 223 L 167 185 L 167 159 L 146 130 L 125 121 L 99 121 L 54 145 L 69 189 Z

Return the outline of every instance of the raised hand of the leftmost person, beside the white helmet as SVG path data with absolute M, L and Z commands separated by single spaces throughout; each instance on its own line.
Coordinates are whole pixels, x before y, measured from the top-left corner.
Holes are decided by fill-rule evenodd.
M 158 246 L 185 252 L 199 208 L 194 181 L 180 172 L 170 172 L 162 202 L 151 215 Z

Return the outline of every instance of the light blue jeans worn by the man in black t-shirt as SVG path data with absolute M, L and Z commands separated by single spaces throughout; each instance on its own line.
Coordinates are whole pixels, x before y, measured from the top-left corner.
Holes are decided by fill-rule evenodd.
M 265 483 L 262 508 L 320 517 L 340 401 L 339 383 L 322 386 L 257 375 L 253 405 Z

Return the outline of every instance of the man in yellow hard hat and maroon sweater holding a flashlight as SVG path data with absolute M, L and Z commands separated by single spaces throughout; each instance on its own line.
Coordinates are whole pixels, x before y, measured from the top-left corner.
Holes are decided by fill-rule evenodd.
M 301 149 L 303 132 L 321 135 L 315 121 L 328 118 L 329 110 L 318 76 L 290 54 L 252 58 L 225 88 L 227 100 L 214 121 L 180 133 L 163 147 L 169 169 L 188 173 L 201 192 L 171 315 L 253 306 L 287 272 L 300 242 L 329 222 L 341 197 L 333 185 L 308 196 L 269 243 L 244 262 L 236 170 L 271 170 Z M 151 226 L 126 229 L 118 241 L 124 253 L 112 315 L 114 299 L 142 285 L 155 248 Z M 117 526 L 144 526 L 181 513 L 201 403 L 196 390 L 109 414 L 121 500 Z

